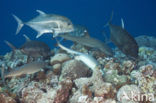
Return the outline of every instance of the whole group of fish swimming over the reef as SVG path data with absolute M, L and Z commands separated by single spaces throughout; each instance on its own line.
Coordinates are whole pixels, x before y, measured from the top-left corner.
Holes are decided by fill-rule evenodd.
M 16 34 L 20 32 L 24 25 L 27 25 L 37 31 L 36 38 L 39 38 L 43 34 L 51 33 L 53 34 L 53 38 L 56 38 L 56 40 L 58 37 L 61 37 L 62 39 L 70 40 L 74 43 L 97 49 L 108 57 L 112 57 L 114 55 L 112 48 L 109 47 L 107 43 L 91 37 L 85 26 L 73 24 L 72 21 L 65 16 L 57 14 L 46 14 L 41 10 L 36 11 L 39 13 L 39 15 L 28 22 L 23 22 L 16 15 L 13 14 L 13 17 L 15 18 L 18 24 Z M 138 45 L 134 37 L 132 37 L 132 35 L 124 29 L 123 19 L 122 26 L 114 25 L 111 23 L 111 21 L 112 17 L 107 23 L 107 26 L 109 26 L 110 39 L 112 43 L 115 44 L 116 47 L 118 47 L 119 50 L 121 50 L 126 56 L 137 59 Z M 23 36 L 25 37 L 26 42 L 19 48 L 16 48 L 8 41 L 5 41 L 5 43 L 12 48 L 13 52 L 18 49 L 23 54 L 26 54 L 30 57 L 40 58 L 50 57 L 52 55 L 50 47 L 44 42 L 38 40 L 31 40 L 26 35 Z M 92 70 L 94 70 L 94 68 L 98 65 L 97 60 L 94 57 L 92 57 L 92 55 L 84 54 L 66 48 L 65 46 L 60 44 L 58 40 L 57 44 L 61 49 L 74 55 L 76 60 L 82 61 Z M 4 78 L 14 76 L 16 77 L 22 74 L 33 74 L 43 69 L 46 65 L 47 63 L 45 63 L 44 60 L 27 63 L 22 65 L 21 67 L 13 69 L 13 71 L 10 71 L 9 73 L 6 73 L 4 75 Z

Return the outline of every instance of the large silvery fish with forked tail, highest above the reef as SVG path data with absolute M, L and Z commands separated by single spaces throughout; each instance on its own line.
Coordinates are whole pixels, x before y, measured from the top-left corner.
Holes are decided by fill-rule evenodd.
M 38 12 L 39 15 L 28 22 L 23 22 L 13 14 L 13 17 L 18 23 L 16 34 L 20 32 L 24 25 L 27 25 L 38 32 L 36 38 L 39 38 L 45 33 L 53 33 L 53 37 L 56 37 L 60 33 L 74 30 L 71 20 L 65 16 L 46 14 L 41 10 L 36 10 L 36 12 Z

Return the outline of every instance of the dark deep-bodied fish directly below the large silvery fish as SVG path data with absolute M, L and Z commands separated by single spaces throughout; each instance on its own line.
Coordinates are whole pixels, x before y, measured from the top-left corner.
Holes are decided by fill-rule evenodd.
M 52 54 L 50 47 L 46 43 L 42 41 L 30 40 L 30 38 L 25 34 L 23 36 L 25 37 L 26 42 L 19 48 L 22 53 L 34 58 L 41 56 L 46 58 Z M 5 43 L 13 49 L 13 52 L 17 50 L 17 48 L 10 42 L 5 41 Z

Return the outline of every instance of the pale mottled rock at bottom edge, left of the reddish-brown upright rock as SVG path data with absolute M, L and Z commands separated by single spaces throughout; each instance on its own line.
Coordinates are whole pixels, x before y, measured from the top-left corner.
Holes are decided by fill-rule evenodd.
M 46 84 L 31 82 L 22 90 L 24 103 L 54 103 L 57 91 Z

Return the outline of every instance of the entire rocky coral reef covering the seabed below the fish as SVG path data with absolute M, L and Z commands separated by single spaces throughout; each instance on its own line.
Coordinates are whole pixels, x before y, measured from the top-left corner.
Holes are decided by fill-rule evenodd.
M 72 48 L 90 53 L 98 62 L 95 68 L 58 52 L 44 62 L 43 71 L 31 75 L 0 79 L 0 103 L 155 103 L 156 51 L 139 48 L 138 60 L 126 57 L 117 48 L 114 57 L 79 44 Z M 0 59 L 5 72 L 30 62 L 16 50 Z M 39 60 L 38 60 L 39 61 Z M 134 94 L 134 95 L 133 95 Z

